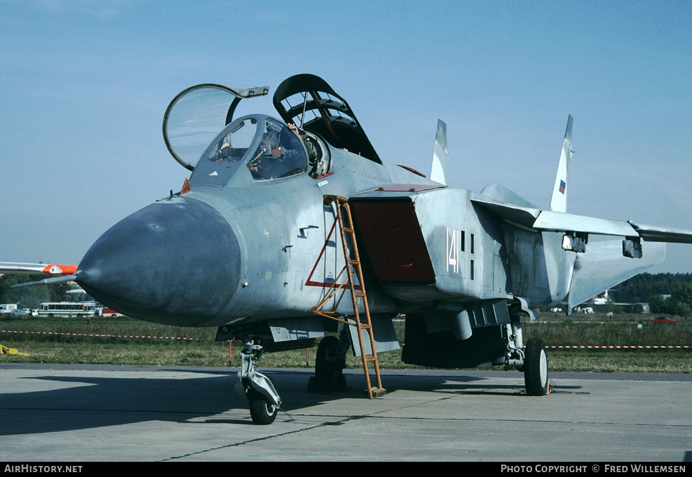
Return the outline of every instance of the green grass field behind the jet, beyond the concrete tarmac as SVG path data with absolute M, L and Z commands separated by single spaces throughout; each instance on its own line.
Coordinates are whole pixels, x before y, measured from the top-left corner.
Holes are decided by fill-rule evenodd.
M 542 313 L 523 325 L 525 342 L 540 337 L 547 346 L 689 346 L 692 320 L 650 324 L 652 315 L 605 314 L 565 317 Z M 641 324 L 641 329 L 637 328 Z M 403 322 L 396 322 L 404 344 Z M 30 356 L 1 355 L 0 362 L 135 364 L 162 366 L 239 366 L 237 342 L 214 342 L 215 328 L 178 328 L 122 318 L 84 319 L 22 317 L 0 319 L 0 344 Z M 21 333 L 13 333 L 21 332 Z M 51 333 L 51 334 L 47 334 Z M 91 336 L 90 336 L 91 335 Z M 109 335 L 93 336 L 93 335 Z M 184 337 L 152 339 L 150 337 Z M 232 352 L 231 352 L 232 350 Z M 552 371 L 692 373 L 690 349 L 549 349 Z M 316 348 L 264 355 L 262 367 L 313 367 Z M 379 354 L 381 368 L 419 368 L 403 364 L 401 351 Z M 347 366 L 360 368 L 348 357 Z M 498 367 L 502 369 L 502 367 Z

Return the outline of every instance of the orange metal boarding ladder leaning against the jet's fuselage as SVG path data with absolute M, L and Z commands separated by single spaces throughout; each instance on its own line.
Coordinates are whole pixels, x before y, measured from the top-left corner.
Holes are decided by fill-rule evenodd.
M 381 395 L 384 395 L 386 391 L 382 388 L 380 366 L 379 362 L 377 361 L 377 352 L 375 350 L 375 339 L 372 335 L 370 307 L 367 304 L 367 295 L 365 294 L 365 282 L 363 281 L 363 269 L 361 268 L 361 258 L 360 255 L 358 255 L 356 231 L 354 230 L 353 218 L 351 216 L 351 208 L 348 205 L 348 199 L 340 196 L 325 195 L 325 204 L 331 203 L 336 203 L 336 218 L 334 218 L 334 225 L 336 225 L 337 222 L 339 224 L 339 231 L 341 233 L 341 245 L 343 245 L 345 265 L 339 272 L 338 277 L 336 277 L 336 280 L 334 280 L 334 283 L 331 283 L 331 286 L 329 286 L 329 288 L 327 289 L 325 297 L 322 298 L 320 303 L 318 303 L 318 305 L 313 307 L 310 311 L 315 313 L 316 315 L 320 315 L 322 317 L 327 317 L 330 319 L 336 319 L 336 321 L 341 321 L 342 323 L 345 323 L 349 326 L 355 326 L 356 329 L 358 329 L 358 344 L 361 346 L 361 357 L 363 358 L 363 372 L 365 373 L 365 385 L 367 386 L 366 392 L 367 396 L 370 397 L 370 399 L 372 399 L 373 395 L 379 397 Z M 344 210 L 344 214 L 342 214 L 341 212 L 342 207 Z M 344 215 L 348 219 L 347 225 L 345 225 L 344 223 Z M 325 247 L 329 242 L 329 238 L 331 238 L 331 232 L 334 231 L 334 225 L 332 225 L 331 231 L 329 232 L 329 236 L 327 236 Z M 346 241 L 346 234 L 350 234 L 351 236 L 354 259 L 350 258 L 349 248 Z M 322 251 L 324 251 L 324 249 L 322 249 Z M 318 258 L 318 261 L 320 260 L 320 258 L 321 254 Z M 346 272 L 346 281 L 343 283 L 337 283 L 341 275 L 344 274 L 344 272 Z M 356 286 L 354 286 L 354 274 L 356 274 L 356 277 L 358 277 L 358 283 L 360 283 L 359 288 L 361 289 L 360 291 L 356 291 Z M 350 290 L 351 292 L 351 303 L 353 306 L 355 323 L 349 321 L 347 317 L 336 312 L 336 309 L 338 308 L 339 303 L 341 302 L 341 299 L 343 298 L 343 295 L 346 292 L 346 290 Z M 327 304 L 327 301 L 336 297 L 336 294 L 339 294 L 339 296 L 338 299 L 336 299 L 334 307 L 332 307 L 329 311 L 322 310 L 322 308 L 324 308 Z M 358 312 L 358 298 L 363 299 L 363 308 L 365 309 L 365 323 L 361 322 L 360 313 Z M 365 355 L 365 349 L 363 348 L 363 333 L 361 333 L 362 330 L 367 330 L 367 335 L 370 336 L 370 349 L 372 350 L 372 355 L 370 356 Z M 370 362 L 374 363 L 375 376 L 377 377 L 377 386 L 375 388 L 373 388 L 370 385 L 370 373 L 368 372 L 367 368 L 367 364 Z

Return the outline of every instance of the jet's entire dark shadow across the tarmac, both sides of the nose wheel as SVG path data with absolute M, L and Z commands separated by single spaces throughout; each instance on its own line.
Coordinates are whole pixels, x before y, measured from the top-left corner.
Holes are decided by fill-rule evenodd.
M 174 373 L 174 372 L 173 372 Z M 136 375 L 137 373 L 132 373 Z M 163 374 L 163 373 L 162 373 Z M 113 425 L 168 420 L 187 422 L 217 416 L 207 422 L 252 425 L 245 400 L 233 390 L 235 373 L 204 373 L 197 377 L 185 371 L 185 377 L 89 377 L 38 376 L 21 380 L 62 382 L 62 389 L 5 393 L 0 395 L 0 427 L 4 434 L 21 435 L 91 429 Z M 362 374 L 347 375 L 347 389 L 335 393 L 308 393 L 310 373 L 268 373 L 277 382 L 284 397 L 284 411 L 327 404 L 334 400 L 362 399 L 365 379 Z M 397 390 L 453 394 L 516 395 L 523 386 L 483 384 L 483 377 L 401 376 L 383 377 L 389 395 Z M 53 387 L 53 384 L 50 385 Z M 386 397 L 384 398 L 386 399 Z M 221 413 L 238 411 L 247 418 L 219 420 Z

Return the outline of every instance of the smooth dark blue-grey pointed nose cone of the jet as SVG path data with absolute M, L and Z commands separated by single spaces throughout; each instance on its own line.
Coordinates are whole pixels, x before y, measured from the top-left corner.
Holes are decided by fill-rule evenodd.
M 240 248 L 226 219 L 190 198 L 154 203 L 91 245 L 76 281 L 125 315 L 195 326 L 218 315 L 240 279 Z

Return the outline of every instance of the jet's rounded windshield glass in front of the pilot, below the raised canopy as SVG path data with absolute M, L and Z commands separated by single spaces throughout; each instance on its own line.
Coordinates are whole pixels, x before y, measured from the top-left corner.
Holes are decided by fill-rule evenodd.
M 239 170 L 256 181 L 293 176 L 307 171 L 307 154 L 282 122 L 248 116 L 230 124 L 206 149 L 190 185 L 224 187 Z

